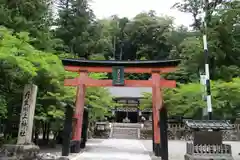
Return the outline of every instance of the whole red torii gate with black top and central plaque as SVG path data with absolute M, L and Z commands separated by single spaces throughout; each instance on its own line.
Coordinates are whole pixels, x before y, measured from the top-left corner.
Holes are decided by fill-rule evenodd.
M 76 86 L 76 108 L 73 118 L 76 119 L 72 140 L 75 141 L 76 152 L 80 151 L 80 141 L 83 123 L 84 98 L 86 87 L 152 87 L 153 113 L 153 151 L 156 156 L 168 156 L 167 150 L 167 114 L 163 107 L 161 87 L 175 87 L 176 82 L 161 79 L 161 73 L 173 72 L 180 63 L 179 60 L 168 61 L 91 61 L 64 59 L 62 63 L 66 71 L 77 72 L 74 79 L 65 79 L 65 86 Z M 88 73 L 113 73 L 113 80 L 95 80 Z M 149 73 L 150 80 L 124 80 L 124 73 Z M 166 159 L 166 158 L 164 158 Z

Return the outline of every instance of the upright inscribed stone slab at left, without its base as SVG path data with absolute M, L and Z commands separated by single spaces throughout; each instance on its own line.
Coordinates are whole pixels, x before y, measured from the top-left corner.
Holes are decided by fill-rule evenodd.
M 32 142 L 36 97 L 37 86 L 31 84 L 25 85 L 17 144 L 31 144 Z

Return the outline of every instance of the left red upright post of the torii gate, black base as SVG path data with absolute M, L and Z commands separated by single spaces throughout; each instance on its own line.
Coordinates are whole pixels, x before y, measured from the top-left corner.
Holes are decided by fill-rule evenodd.
M 73 143 L 74 149 L 72 152 L 79 153 L 80 152 L 80 144 L 81 144 L 81 134 L 82 134 L 82 122 L 83 122 L 83 112 L 84 112 L 84 100 L 85 100 L 85 85 L 81 83 L 84 79 L 87 78 L 86 72 L 80 73 L 80 84 L 77 87 L 77 97 L 76 97 L 76 108 L 73 118 L 76 119 L 75 128 L 73 129 Z

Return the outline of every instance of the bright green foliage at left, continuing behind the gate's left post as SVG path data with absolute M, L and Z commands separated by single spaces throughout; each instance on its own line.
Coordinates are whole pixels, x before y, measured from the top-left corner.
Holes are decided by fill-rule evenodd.
M 64 118 L 61 102 L 73 104 L 76 90 L 63 86 L 65 72 L 60 59 L 51 53 L 34 49 L 26 32 L 13 35 L 8 29 L 0 28 L 0 69 L 1 69 L 1 117 L 5 116 L 6 106 L 21 106 L 23 87 L 34 83 L 39 88 L 36 120 L 49 121 Z M 102 79 L 106 74 L 90 74 Z M 13 96 L 14 95 L 14 96 Z M 4 98 L 7 97 L 7 98 Z M 86 105 L 91 108 L 92 120 L 103 118 L 112 105 L 112 98 L 104 88 L 88 88 Z

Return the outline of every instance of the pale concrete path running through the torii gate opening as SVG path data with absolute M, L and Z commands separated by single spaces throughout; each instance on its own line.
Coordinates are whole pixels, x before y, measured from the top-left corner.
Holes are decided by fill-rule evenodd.
M 151 160 L 140 140 L 89 140 L 87 149 L 76 160 Z

